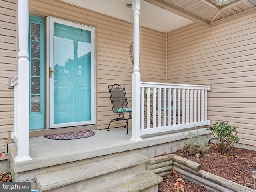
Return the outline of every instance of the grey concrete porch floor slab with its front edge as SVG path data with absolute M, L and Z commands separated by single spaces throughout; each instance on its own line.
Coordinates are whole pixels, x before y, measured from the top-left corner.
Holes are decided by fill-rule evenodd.
M 15 143 L 8 144 L 11 166 L 14 172 L 24 172 L 43 167 L 74 162 L 118 152 L 134 151 L 149 158 L 164 153 L 175 152 L 181 147 L 184 135 L 194 128 L 180 130 L 179 132 L 166 132 L 159 135 L 147 136 L 143 141 L 131 141 L 132 128 L 111 128 L 109 132 L 93 130 L 94 136 L 75 140 L 52 140 L 44 136 L 29 139 L 29 155 L 32 160 L 14 162 L 17 154 Z M 206 128 L 197 129 L 200 135 L 210 138 L 210 131 Z M 142 150 L 143 149 L 143 150 Z

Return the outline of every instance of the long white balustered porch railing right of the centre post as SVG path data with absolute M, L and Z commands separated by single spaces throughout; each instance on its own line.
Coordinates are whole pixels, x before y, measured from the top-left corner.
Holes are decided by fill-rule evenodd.
M 141 82 L 141 135 L 209 125 L 210 86 Z

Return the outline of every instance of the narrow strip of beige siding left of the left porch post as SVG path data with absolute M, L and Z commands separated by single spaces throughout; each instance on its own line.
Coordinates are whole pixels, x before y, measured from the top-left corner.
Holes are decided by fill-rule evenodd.
M 8 77 L 16 76 L 16 0 L 0 0 L 0 18 L 0 153 L 5 154 L 8 132 L 13 131 L 13 89 L 8 88 Z

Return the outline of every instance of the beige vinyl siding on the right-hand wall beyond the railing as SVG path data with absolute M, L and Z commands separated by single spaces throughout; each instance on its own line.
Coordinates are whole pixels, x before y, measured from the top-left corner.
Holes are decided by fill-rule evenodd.
M 169 83 L 212 84 L 208 119 L 229 122 L 256 146 L 256 9 L 168 33 Z

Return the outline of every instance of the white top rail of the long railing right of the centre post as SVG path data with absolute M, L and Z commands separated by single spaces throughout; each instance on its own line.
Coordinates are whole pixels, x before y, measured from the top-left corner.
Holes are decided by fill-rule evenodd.
M 156 82 L 140 82 L 141 87 L 150 88 L 178 88 L 178 89 L 201 89 L 210 90 L 209 85 L 188 85 L 188 84 L 172 84 L 172 83 L 156 83 Z

